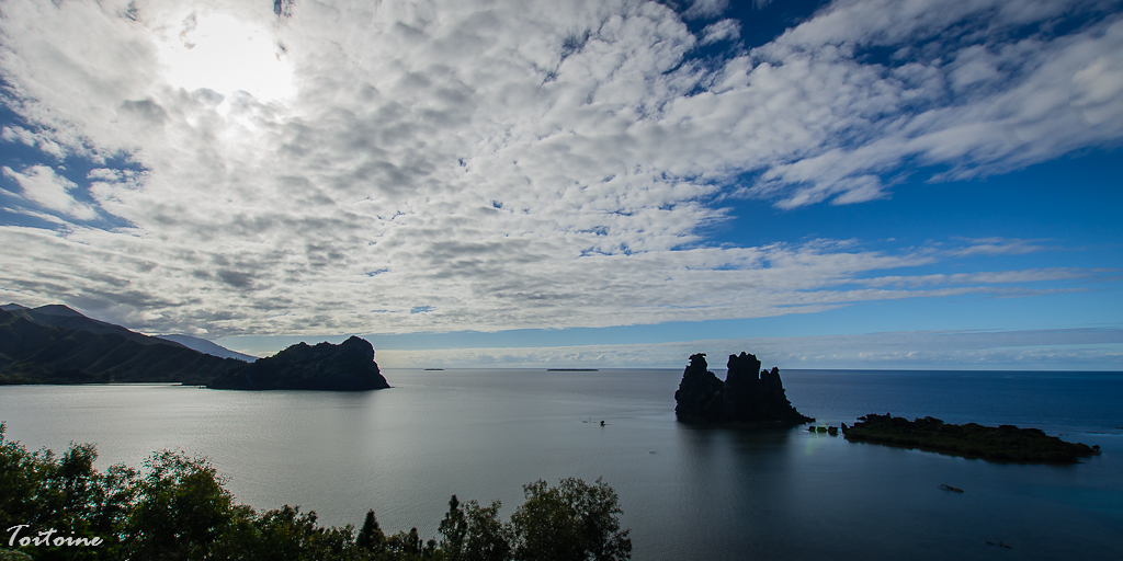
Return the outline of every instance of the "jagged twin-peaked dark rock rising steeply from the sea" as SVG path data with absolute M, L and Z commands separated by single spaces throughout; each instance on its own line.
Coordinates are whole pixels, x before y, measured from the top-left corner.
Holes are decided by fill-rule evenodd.
M 730 355 L 721 381 L 707 370 L 705 353 L 691 356 L 675 392 L 675 415 L 693 423 L 810 423 L 787 401 L 779 369 L 760 369 L 754 355 Z

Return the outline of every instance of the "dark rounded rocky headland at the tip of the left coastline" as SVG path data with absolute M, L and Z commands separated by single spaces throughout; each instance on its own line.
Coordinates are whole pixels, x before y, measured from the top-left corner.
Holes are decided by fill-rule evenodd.
M 209 387 L 362 392 L 387 388 L 390 384 L 374 361 L 374 347 L 353 335 L 339 344 L 293 344 L 214 378 Z

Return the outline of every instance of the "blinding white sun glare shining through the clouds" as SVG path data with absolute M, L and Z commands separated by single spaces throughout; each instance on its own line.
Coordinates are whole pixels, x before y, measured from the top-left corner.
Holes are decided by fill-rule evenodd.
M 291 64 L 268 29 L 226 13 L 186 13 L 168 26 L 161 49 L 174 88 L 208 89 L 227 98 L 244 91 L 262 102 L 296 93 Z

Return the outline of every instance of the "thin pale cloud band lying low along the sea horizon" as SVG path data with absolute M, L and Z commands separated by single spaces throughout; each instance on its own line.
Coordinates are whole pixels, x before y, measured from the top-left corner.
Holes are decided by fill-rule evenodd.
M 705 352 L 711 370 L 725 357 L 755 353 L 765 368 L 1116 370 L 1123 330 L 911 331 L 649 344 L 480 349 L 380 349 L 383 368 L 683 368 Z

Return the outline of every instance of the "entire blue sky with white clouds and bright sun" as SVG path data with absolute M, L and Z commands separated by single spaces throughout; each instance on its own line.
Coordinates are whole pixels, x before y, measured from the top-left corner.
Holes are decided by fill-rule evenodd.
M 384 367 L 1123 370 L 1123 1 L 3 0 L 0 301 Z

